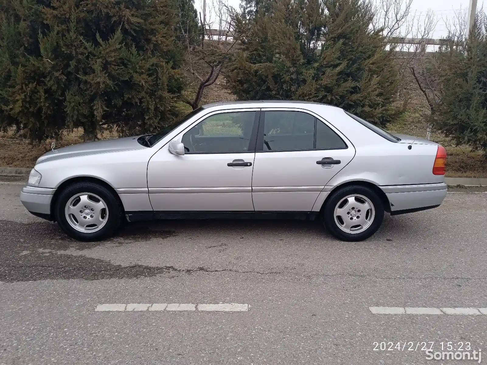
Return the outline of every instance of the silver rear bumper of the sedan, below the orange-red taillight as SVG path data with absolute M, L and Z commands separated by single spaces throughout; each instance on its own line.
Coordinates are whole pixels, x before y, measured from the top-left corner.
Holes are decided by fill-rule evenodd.
M 391 203 L 391 215 L 436 208 L 447 196 L 447 184 L 390 185 L 380 187 Z

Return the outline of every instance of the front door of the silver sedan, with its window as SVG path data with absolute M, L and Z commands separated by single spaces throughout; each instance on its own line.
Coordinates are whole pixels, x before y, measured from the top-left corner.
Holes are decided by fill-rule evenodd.
M 253 211 L 252 169 L 259 110 L 221 110 L 205 115 L 150 159 L 149 198 L 155 211 Z

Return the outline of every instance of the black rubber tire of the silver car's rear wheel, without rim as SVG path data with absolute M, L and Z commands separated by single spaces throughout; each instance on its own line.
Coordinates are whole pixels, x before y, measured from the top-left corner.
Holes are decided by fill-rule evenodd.
M 342 241 L 349 242 L 362 241 L 371 237 L 375 234 L 375 232 L 377 232 L 380 225 L 382 224 L 382 220 L 384 219 L 384 204 L 373 189 L 363 185 L 349 185 L 343 188 L 339 188 L 332 194 L 333 195 L 325 203 L 322 215 L 323 225 L 328 230 L 328 232 L 330 232 L 338 239 L 341 239 Z M 337 222 L 335 221 L 335 208 L 337 207 L 337 204 L 343 201 L 347 196 L 354 194 L 361 195 L 369 199 L 369 201 L 372 202 L 375 210 L 375 215 L 372 219 L 372 223 L 370 223 L 368 228 L 359 233 L 345 232 L 338 226 Z

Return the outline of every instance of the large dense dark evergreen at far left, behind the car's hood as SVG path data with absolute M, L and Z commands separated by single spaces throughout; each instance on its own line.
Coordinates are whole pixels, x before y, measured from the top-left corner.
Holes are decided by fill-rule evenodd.
M 42 141 L 170 123 L 183 85 L 177 15 L 171 0 L 0 0 L 0 128 Z

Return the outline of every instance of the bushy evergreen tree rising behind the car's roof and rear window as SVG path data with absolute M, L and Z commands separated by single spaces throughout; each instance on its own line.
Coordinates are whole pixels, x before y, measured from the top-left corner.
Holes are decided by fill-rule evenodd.
M 384 126 L 403 111 L 400 78 L 373 19 L 363 0 L 246 0 L 233 14 L 242 47 L 230 88 L 240 99 L 331 104 Z

